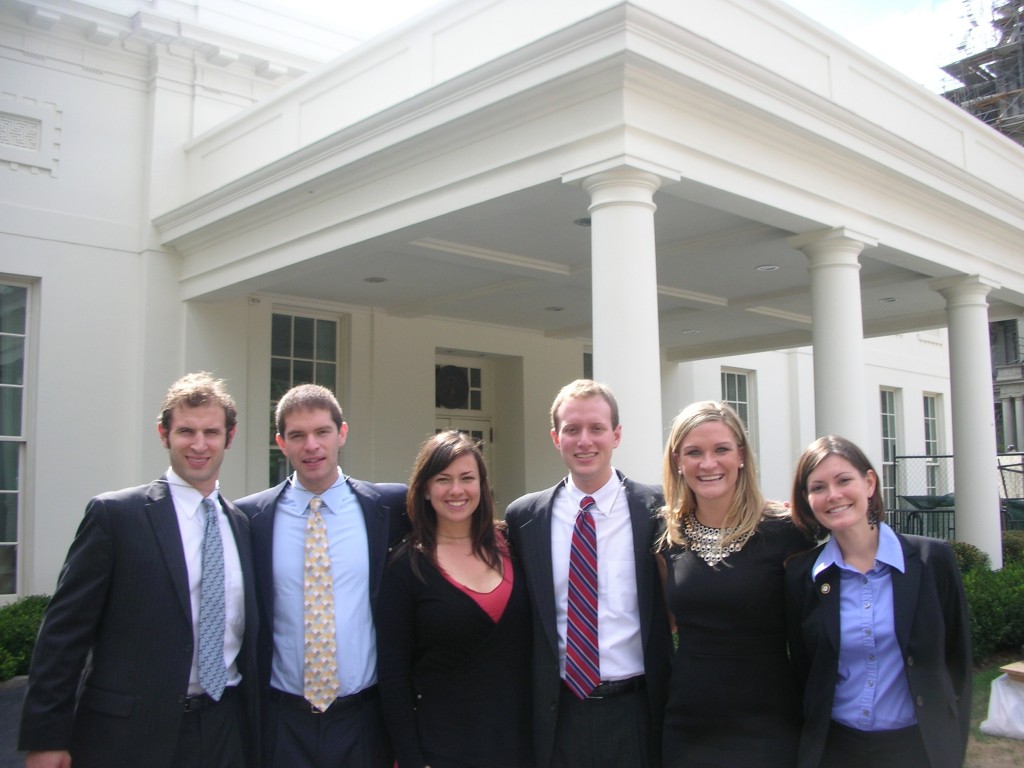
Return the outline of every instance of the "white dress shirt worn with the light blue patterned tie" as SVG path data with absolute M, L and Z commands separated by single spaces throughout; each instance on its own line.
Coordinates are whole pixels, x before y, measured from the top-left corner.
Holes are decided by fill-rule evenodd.
M 181 546 L 184 548 L 185 566 L 188 569 L 188 598 L 193 612 L 193 664 L 191 672 L 188 673 L 188 695 L 195 696 L 203 692 L 203 686 L 199 684 L 199 602 L 203 581 L 203 537 L 206 532 L 204 497 L 178 477 L 173 469 L 167 470 L 167 484 L 178 516 Z M 242 561 L 239 560 L 234 531 L 220 506 L 218 492 L 215 489 L 207 498 L 217 508 L 217 524 L 224 547 L 224 666 L 227 668 L 227 684 L 238 685 L 242 681 L 242 675 L 239 673 L 237 659 L 246 631 Z

